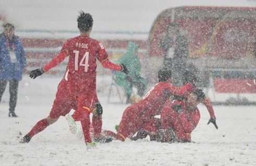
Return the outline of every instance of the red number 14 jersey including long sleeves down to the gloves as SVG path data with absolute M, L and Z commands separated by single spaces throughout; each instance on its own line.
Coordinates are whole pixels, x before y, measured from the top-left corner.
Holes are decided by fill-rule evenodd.
M 120 65 L 109 62 L 104 46 L 99 41 L 87 37 L 87 35 L 79 35 L 78 37 L 68 39 L 62 47 L 61 53 L 46 64 L 43 70 L 47 72 L 60 64 L 66 56 L 69 56 L 67 66 L 69 73 L 76 73 L 75 75 L 85 75 L 86 73 L 90 73 L 91 76 L 96 75 L 94 72 L 97 69 L 97 59 L 105 68 L 121 70 Z

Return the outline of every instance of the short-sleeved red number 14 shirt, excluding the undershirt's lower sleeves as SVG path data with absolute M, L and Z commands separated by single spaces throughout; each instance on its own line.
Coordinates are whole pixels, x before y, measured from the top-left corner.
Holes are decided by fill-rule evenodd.
M 104 46 L 97 40 L 86 35 L 68 39 L 61 51 L 66 51 L 69 56 L 69 74 L 74 78 L 87 79 L 95 77 L 98 59 L 101 63 L 108 58 Z

